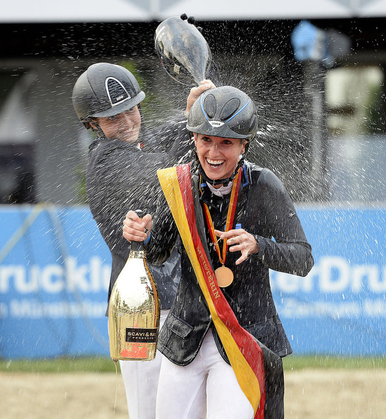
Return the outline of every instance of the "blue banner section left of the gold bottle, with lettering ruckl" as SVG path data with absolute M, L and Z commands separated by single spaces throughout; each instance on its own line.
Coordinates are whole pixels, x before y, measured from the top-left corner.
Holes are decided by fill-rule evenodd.
M 0 356 L 109 356 L 111 256 L 89 209 L 3 206 L 0 220 Z

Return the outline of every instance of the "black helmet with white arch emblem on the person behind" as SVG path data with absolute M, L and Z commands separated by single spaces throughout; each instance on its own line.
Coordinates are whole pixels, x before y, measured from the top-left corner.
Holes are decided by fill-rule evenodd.
M 135 77 L 116 64 L 91 65 L 76 81 L 72 103 L 79 119 L 90 128 L 90 118 L 113 116 L 145 98 Z

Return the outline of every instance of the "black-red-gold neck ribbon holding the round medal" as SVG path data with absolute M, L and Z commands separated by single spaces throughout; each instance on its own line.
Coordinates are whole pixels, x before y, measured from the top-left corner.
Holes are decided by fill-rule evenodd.
M 237 203 L 237 198 L 239 196 L 239 190 L 240 190 L 240 183 L 241 183 L 241 167 L 239 171 L 237 172 L 235 179 L 233 181 L 231 200 L 229 202 L 229 207 L 228 207 L 227 223 L 225 225 L 225 230 L 224 230 L 225 232 L 229 231 L 233 226 L 233 220 L 235 219 L 235 213 L 236 213 L 236 203 Z M 201 184 L 201 179 L 200 179 L 200 184 Z M 220 263 L 224 266 L 225 260 L 227 258 L 227 250 L 228 250 L 227 241 L 224 240 L 223 242 L 223 254 L 221 255 L 220 246 L 218 245 L 219 239 L 217 239 L 215 235 L 215 226 L 213 225 L 213 221 L 212 221 L 211 213 L 209 212 L 208 205 L 205 202 L 204 202 L 204 212 L 205 212 L 205 218 L 207 219 L 209 234 L 211 236 L 213 244 L 215 245 L 216 252 L 219 255 Z

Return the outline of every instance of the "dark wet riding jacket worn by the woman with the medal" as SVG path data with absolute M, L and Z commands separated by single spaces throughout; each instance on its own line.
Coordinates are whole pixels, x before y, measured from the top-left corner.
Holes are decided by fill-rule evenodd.
M 191 171 L 199 234 L 216 269 L 221 264 L 209 238 L 203 200 L 209 204 L 215 228 L 224 230 L 230 194 L 224 196 L 222 205 L 206 188 L 200 196 L 200 180 L 194 165 Z M 157 211 L 162 217 L 154 220 L 151 240 L 146 246 L 151 263 L 162 263 L 167 258 L 177 236 L 165 206 L 166 200 L 161 198 Z M 269 269 L 305 276 L 313 266 L 313 258 L 291 198 L 270 170 L 245 162 L 233 228 L 236 225 L 255 236 L 259 251 L 240 265 L 235 264 L 240 252 L 227 253 L 225 266 L 232 269 L 234 281 L 222 291 L 242 327 L 276 355 L 288 355 L 292 349 L 275 308 Z M 212 319 L 188 256 L 184 249 L 181 252 L 181 280 L 160 331 L 158 349 L 175 364 L 187 365 L 199 352 Z M 212 331 L 220 353 L 229 362 L 214 327 Z

